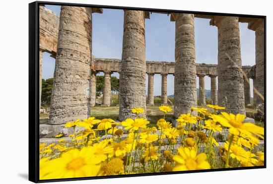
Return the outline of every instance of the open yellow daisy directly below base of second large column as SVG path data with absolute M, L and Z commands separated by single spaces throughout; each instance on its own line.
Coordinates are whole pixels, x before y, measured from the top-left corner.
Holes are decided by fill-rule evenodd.
M 139 128 L 146 128 L 146 124 L 148 124 L 149 122 L 147 121 L 147 119 L 144 118 L 136 118 L 135 120 L 129 118 L 126 121 L 122 122 L 123 126 L 126 126 L 124 129 L 128 130 L 130 129 L 130 131 L 137 131 Z

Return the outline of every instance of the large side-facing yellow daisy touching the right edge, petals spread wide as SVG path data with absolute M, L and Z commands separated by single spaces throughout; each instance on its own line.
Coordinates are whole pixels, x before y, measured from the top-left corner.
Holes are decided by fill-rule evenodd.
M 263 127 L 257 126 L 253 123 L 243 123 L 245 116 L 237 114 L 221 113 L 221 115 L 211 115 L 214 121 L 221 123 L 222 126 L 228 127 L 229 132 L 234 135 L 243 133 L 247 136 L 255 134 L 261 138 L 264 138 L 265 130 Z

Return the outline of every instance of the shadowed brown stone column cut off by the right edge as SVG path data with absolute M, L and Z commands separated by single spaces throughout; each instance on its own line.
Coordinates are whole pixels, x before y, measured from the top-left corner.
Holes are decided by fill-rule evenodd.
M 265 24 L 264 19 L 254 19 L 248 28 L 255 31 L 256 54 L 256 105 L 264 103 L 265 96 Z

